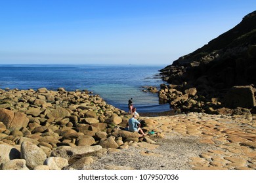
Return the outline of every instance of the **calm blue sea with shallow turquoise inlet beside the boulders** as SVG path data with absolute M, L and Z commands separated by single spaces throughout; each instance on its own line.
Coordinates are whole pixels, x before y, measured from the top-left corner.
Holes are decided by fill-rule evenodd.
M 0 88 L 89 90 L 107 103 L 127 111 L 128 99 L 138 112 L 163 112 L 158 94 L 142 92 L 142 86 L 159 87 L 158 70 L 165 65 L 0 65 Z

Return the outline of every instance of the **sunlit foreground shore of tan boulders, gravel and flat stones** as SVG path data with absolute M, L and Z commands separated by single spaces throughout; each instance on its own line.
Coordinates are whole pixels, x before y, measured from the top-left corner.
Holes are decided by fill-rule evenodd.
M 255 114 L 131 118 L 86 91 L 0 90 L 0 169 L 256 169 Z M 139 161 L 138 161 L 139 159 Z

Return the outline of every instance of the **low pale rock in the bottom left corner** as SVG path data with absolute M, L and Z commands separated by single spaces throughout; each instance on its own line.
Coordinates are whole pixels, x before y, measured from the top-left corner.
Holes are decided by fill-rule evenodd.
M 26 167 L 25 159 L 12 159 L 11 161 L 7 161 L 3 163 L 0 167 L 1 170 L 29 170 Z

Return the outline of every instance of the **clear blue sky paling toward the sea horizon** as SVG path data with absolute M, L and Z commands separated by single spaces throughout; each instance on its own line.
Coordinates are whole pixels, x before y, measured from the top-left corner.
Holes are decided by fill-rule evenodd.
M 0 64 L 169 65 L 254 10 L 255 0 L 0 0 Z

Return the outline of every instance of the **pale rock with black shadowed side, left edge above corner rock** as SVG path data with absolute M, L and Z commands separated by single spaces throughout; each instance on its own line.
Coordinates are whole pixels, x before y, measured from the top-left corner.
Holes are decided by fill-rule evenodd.
M 0 165 L 1 163 L 5 163 L 12 159 L 19 159 L 19 158 L 20 158 L 19 150 L 9 145 L 0 144 Z

